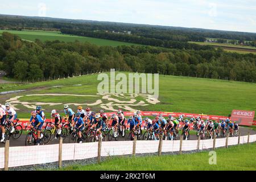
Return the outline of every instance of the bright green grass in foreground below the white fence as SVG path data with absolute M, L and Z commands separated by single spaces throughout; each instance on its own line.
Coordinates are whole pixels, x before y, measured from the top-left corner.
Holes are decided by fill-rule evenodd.
M 256 143 L 219 148 L 217 164 L 209 164 L 209 152 L 144 157 L 111 157 L 100 164 L 68 166 L 65 171 L 245 171 L 256 170 Z

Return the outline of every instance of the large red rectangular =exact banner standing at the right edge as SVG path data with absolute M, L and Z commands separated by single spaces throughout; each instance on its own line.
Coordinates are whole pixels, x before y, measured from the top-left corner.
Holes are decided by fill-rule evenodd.
M 233 110 L 231 121 L 236 121 L 238 125 L 251 126 L 253 125 L 255 111 Z

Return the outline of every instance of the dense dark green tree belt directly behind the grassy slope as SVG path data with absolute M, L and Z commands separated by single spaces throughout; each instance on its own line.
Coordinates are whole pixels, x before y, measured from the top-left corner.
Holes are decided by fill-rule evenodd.
M 26 42 L 3 32 L 0 69 L 19 80 L 105 69 L 256 81 L 256 55 L 223 49 L 170 49 L 151 46 L 96 46 L 81 42 Z

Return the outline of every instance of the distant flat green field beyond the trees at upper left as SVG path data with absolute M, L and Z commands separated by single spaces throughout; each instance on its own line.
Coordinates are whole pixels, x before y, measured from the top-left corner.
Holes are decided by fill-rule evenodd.
M 106 40 L 106 39 L 97 39 L 97 38 L 89 38 L 84 36 L 75 36 L 75 35 L 66 35 L 61 34 L 60 32 L 56 31 L 15 31 L 15 30 L 0 30 L 0 34 L 2 32 L 10 32 L 11 34 L 16 34 L 20 36 L 20 38 L 24 40 L 35 41 L 35 39 L 39 39 L 42 42 L 46 40 L 60 40 L 64 42 L 74 42 L 75 40 L 79 40 L 80 42 L 89 42 L 92 44 L 96 44 L 98 46 L 131 46 L 131 45 L 138 45 L 133 43 L 126 43 L 126 42 L 118 42 L 114 40 Z

